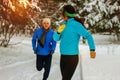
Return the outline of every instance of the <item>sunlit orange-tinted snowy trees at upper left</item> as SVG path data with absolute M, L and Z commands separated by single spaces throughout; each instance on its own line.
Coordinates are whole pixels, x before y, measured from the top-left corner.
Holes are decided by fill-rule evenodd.
M 20 31 L 32 34 L 55 9 L 54 0 L 0 0 L 0 46 L 7 46 Z

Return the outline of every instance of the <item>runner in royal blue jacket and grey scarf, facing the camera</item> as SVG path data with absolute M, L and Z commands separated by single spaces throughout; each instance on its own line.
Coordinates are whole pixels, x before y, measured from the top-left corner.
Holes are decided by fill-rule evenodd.
M 50 27 L 50 19 L 44 18 L 42 27 L 35 30 L 32 37 L 32 47 L 36 54 L 36 68 L 41 71 L 45 69 L 43 80 L 47 80 L 51 68 L 52 54 L 56 48 L 56 42 L 53 40 L 54 31 Z

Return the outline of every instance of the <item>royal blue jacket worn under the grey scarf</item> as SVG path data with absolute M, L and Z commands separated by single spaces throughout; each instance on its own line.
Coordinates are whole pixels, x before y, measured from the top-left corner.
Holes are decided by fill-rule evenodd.
M 38 38 L 42 35 L 43 28 L 38 28 L 35 30 L 34 35 L 32 37 L 32 48 L 37 51 L 38 55 L 48 55 L 51 50 L 55 50 L 56 41 L 53 40 L 53 30 L 49 30 L 46 34 L 46 40 L 44 44 L 44 48 L 40 46 L 38 43 Z

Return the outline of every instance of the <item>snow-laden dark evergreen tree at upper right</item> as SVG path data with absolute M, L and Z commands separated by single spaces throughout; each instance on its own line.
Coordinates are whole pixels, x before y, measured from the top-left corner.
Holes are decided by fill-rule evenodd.
M 120 37 L 120 0 L 71 0 L 79 17 L 94 32 L 107 31 Z

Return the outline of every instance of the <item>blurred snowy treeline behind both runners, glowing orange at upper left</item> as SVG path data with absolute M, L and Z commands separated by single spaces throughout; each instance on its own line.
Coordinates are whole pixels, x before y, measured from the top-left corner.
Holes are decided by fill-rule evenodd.
M 51 28 L 56 30 L 65 4 L 76 8 L 91 33 L 120 40 L 120 0 L 0 0 L 0 46 L 8 46 L 13 36 L 31 36 L 44 17 L 51 18 Z

